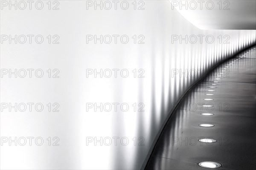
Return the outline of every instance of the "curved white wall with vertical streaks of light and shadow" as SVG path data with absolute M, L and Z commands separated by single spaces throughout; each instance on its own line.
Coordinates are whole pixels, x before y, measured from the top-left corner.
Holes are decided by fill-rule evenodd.
M 1 103 L 41 102 L 44 111 L 0 114 L 1 137 L 41 136 L 42 146 L 1 147 L 2 169 L 140 169 L 163 125 L 180 96 L 213 65 L 256 42 L 255 30 L 200 30 L 169 1 L 145 1 L 145 10 L 86 10 L 86 1 L 60 1 L 59 10 L 1 10 L 0 34 L 59 35 L 59 44 L 1 43 L 1 69 L 57 68 L 60 78 L 1 78 Z M 86 43 L 86 35 L 126 34 L 127 44 Z M 143 35 L 144 44 L 134 44 L 133 35 Z M 173 36 L 174 35 L 174 36 Z M 175 35 L 211 35 L 211 44 L 183 40 Z M 224 36 L 226 37 L 224 38 Z M 229 44 L 219 42 L 219 37 Z M 199 37 L 198 37 L 199 38 Z M 193 41 L 191 39 L 191 41 Z M 209 39 L 210 41 L 210 39 Z M 128 69 L 122 78 L 86 77 L 86 69 Z M 134 78 L 134 69 L 143 69 L 144 78 Z M 203 69 L 196 77 L 172 70 Z M 137 75 L 138 76 L 138 75 Z M 59 112 L 49 112 L 48 103 L 59 103 Z M 127 103 L 127 112 L 86 111 L 86 103 Z M 134 103 L 143 103 L 144 112 L 134 112 Z M 137 108 L 138 109 L 138 108 Z M 59 146 L 48 146 L 48 137 L 57 136 Z M 86 145 L 87 137 L 112 138 L 110 146 Z M 129 144 L 117 146 L 113 137 L 127 137 Z M 137 144 L 134 146 L 136 137 Z M 143 137 L 144 146 L 138 146 Z M 105 141 L 106 142 L 106 141 Z M 125 141 L 124 141 L 125 143 Z

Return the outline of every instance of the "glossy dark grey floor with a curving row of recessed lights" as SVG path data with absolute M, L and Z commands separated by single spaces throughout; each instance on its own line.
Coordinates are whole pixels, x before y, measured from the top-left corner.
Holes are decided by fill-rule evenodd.
M 207 170 L 202 161 L 220 163 L 219 170 L 256 170 L 256 47 L 219 65 L 184 96 L 145 169 Z

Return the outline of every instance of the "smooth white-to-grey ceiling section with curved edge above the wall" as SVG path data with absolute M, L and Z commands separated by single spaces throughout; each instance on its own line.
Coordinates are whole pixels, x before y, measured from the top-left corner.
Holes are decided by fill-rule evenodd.
M 170 2 L 173 10 L 179 11 L 186 20 L 201 29 L 256 29 L 256 0 L 201 0 L 201 2 L 170 0 Z M 187 5 L 181 6 L 181 3 Z

